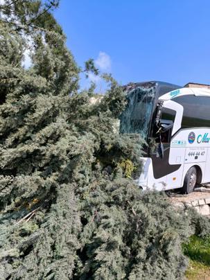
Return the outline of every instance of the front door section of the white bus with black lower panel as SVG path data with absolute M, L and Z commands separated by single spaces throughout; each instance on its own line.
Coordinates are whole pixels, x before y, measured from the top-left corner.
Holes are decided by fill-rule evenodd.
M 182 184 L 185 148 L 181 144 L 172 144 L 173 137 L 181 128 L 182 115 L 182 105 L 172 100 L 162 103 L 159 132 L 155 133 L 157 151 L 152 155 L 152 166 L 155 179 L 165 180 L 163 189 L 178 188 Z

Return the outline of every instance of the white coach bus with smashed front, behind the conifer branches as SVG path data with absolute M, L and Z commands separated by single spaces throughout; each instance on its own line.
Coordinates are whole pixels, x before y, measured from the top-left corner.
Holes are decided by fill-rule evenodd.
M 191 193 L 210 182 L 210 89 L 141 82 L 125 90 L 120 131 L 139 133 L 148 143 L 139 186 Z

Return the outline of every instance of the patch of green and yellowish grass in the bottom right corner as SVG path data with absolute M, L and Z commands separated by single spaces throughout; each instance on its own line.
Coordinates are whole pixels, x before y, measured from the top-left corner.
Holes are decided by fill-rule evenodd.
M 189 243 L 183 245 L 183 249 L 190 259 L 186 279 L 210 280 L 210 237 L 191 236 Z

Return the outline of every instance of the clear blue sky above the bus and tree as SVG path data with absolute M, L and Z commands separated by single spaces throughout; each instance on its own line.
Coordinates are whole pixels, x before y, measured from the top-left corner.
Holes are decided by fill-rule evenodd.
M 209 0 L 61 0 L 54 14 L 80 66 L 94 58 L 122 85 L 185 85 L 210 84 L 209 10 Z

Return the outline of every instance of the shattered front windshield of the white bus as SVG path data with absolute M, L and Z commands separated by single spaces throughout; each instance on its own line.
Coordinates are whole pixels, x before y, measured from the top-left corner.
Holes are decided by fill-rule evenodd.
M 128 104 L 121 114 L 121 133 L 139 133 L 146 139 L 155 100 L 155 87 L 135 87 L 128 91 Z

